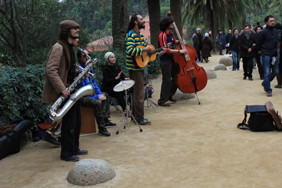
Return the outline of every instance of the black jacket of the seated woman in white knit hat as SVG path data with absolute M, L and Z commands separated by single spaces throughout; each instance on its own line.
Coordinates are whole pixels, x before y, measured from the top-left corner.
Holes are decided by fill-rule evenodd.
M 103 83 L 101 87 L 102 91 L 113 89 L 115 85 L 117 85 L 121 80 L 125 79 L 125 75 L 123 73 L 121 73 L 120 79 L 115 79 L 120 71 L 121 69 L 116 64 L 114 64 L 114 66 L 106 64 L 103 67 Z

